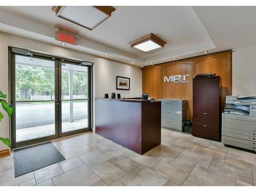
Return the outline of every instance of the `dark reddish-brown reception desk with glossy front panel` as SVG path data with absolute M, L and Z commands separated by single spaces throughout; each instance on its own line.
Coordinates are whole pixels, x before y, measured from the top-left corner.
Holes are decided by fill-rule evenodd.
M 140 99 L 95 100 L 95 132 L 144 154 L 161 143 L 161 102 Z

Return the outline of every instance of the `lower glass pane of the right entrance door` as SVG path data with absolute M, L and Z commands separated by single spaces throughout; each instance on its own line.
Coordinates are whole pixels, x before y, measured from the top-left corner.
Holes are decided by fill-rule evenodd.
M 62 133 L 88 127 L 88 101 L 61 101 Z

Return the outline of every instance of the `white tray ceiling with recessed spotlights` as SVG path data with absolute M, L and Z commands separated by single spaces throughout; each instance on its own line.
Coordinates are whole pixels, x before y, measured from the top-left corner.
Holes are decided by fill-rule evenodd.
M 115 8 L 110 18 L 90 31 L 57 17 L 50 6 L 0 7 L 0 30 L 17 34 L 17 29 L 21 29 L 23 33 L 20 32 L 20 35 L 23 36 L 26 30 L 26 35 L 31 33 L 31 38 L 36 38 L 38 34 L 38 39 L 50 42 L 54 41 L 54 27 L 57 26 L 78 33 L 81 37 L 78 46 L 69 47 L 71 49 L 98 56 L 108 54 L 112 59 L 135 62 L 138 66 L 170 61 L 173 57 L 181 59 L 202 55 L 204 50 L 210 53 L 256 44 L 255 7 Z M 2 15 L 9 14 L 8 18 L 11 18 L 1 17 L 1 12 Z M 20 20 L 19 24 L 15 24 L 15 16 Z M 35 22 L 38 26 L 31 28 L 29 24 Z M 162 49 L 148 53 L 131 48 L 128 42 L 148 33 L 158 35 L 167 44 Z

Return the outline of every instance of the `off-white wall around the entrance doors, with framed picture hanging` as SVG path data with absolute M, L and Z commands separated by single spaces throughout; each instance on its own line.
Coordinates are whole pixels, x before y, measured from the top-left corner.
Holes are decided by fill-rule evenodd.
M 33 51 L 46 53 L 65 58 L 86 60 L 93 62 L 93 98 L 103 97 L 105 93 L 121 93 L 121 97 L 135 97 L 142 94 L 142 70 L 139 67 L 126 65 L 101 57 L 79 51 L 47 44 L 24 37 L 19 37 L 0 32 L 0 84 L 3 92 L 8 94 L 8 46 L 30 49 Z M 130 91 L 116 90 L 116 76 L 131 78 Z M 0 136 L 9 136 L 8 118 L 6 112 L 0 108 L 5 118 L 0 122 Z M 94 121 L 95 122 L 95 121 Z M 95 123 L 94 123 L 95 124 Z M 0 142 L 0 151 L 6 145 Z

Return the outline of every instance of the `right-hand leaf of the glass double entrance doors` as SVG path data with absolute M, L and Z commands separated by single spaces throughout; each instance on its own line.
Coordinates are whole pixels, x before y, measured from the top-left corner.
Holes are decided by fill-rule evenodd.
M 60 135 L 89 131 L 90 124 L 90 69 L 68 61 L 61 61 Z

